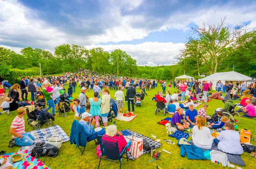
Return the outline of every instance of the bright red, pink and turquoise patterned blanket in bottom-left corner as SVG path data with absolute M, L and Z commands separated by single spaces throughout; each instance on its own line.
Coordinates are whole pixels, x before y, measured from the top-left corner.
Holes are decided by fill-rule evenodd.
M 50 169 L 50 167 L 46 166 L 42 161 L 38 160 L 37 158 L 34 158 L 31 156 L 31 152 L 28 149 L 21 149 L 18 152 L 15 153 L 8 153 L 0 157 L 0 160 L 3 158 L 7 158 L 8 161 L 10 161 L 12 154 L 23 154 L 22 160 L 12 163 L 13 169 Z

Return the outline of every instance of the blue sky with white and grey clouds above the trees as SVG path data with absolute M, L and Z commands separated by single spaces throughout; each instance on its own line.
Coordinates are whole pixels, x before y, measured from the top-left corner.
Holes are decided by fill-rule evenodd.
M 256 27 L 255 0 L 0 0 L 0 46 L 54 52 L 64 43 L 121 49 L 137 65 L 172 65 L 191 28 Z

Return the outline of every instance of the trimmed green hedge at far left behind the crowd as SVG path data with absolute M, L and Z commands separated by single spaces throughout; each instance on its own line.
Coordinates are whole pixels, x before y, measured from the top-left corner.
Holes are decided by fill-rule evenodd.
M 36 76 L 37 73 L 35 70 L 20 70 L 20 69 L 11 69 L 9 75 L 3 76 L 4 80 L 8 80 L 10 84 L 20 84 L 20 79 L 22 76 Z

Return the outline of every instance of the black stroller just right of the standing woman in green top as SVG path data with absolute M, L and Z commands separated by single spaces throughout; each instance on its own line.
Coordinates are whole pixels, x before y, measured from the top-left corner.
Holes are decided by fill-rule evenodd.
M 68 94 L 65 93 L 65 90 L 60 90 L 60 102 L 58 103 L 58 116 L 63 115 L 63 117 L 67 117 L 67 113 L 70 112 L 70 110 L 74 110 L 72 107 L 70 107 L 70 99 L 68 99 Z

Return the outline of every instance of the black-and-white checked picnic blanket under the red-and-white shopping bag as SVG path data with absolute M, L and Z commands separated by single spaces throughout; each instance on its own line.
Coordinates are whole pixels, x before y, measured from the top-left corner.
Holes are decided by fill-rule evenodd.
M 133 137 L 136 135 L 136 137 L 145 139 L 147 141 L 147 143 L 149 143 L 150 147 L 154 146 L 157 149 L 160 146 L 162 146 L 162 144 L 160 144 L 160 143 L 152 140 L 151 138 L 148 138 L 148 137 L 146 137 L 146 136 L 144 136 L 144 135 L 142 135 L 140 133 L 134 132 L 133 130 L 130 130 L 130 129 L 125 129 L 125 130 L 128 131 L 128 132 L 131 132 L 131 136 L 133 136 Z M 123 132 L 125 130 L 122 130 L 120 132 Z M 131 151 L 131 149 L 130 149 L 130 151 Z M 128 158 L 131 159 L 131 160 L 136 160 L 133 156 L 131 156 L 131 152 L 130 151 L 127 152 Z M 145 151 L 145 149 L 143 150 L 143 154 L 148 153 L 148 152 L 150 152 L 150 150 L 149 151 Z

